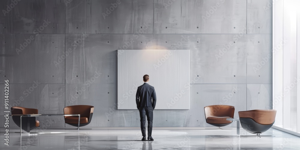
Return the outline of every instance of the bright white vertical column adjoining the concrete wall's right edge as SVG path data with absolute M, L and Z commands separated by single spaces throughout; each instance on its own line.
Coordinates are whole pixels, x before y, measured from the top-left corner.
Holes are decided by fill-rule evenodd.
M 273 1 L 273 109 L 275 125 L 283 128 L 283 0 Z

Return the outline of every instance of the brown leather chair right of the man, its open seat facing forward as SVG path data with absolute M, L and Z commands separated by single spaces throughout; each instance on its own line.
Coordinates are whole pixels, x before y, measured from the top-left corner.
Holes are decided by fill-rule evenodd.
M 206 123 L 219 127 L 222 129 L 225 125 L 229 125 L 232 121 L 226 120 L 227 118 L 233 118 L 234 107 L 228 105 L 211 105 L 204 107 Z

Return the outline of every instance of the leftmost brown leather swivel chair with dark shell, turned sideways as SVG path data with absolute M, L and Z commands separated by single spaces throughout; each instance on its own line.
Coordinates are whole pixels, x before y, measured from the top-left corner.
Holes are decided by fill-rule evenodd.
M 11 115 L 13 118 L 13 122 L 20 127 L 21 126 L 21 119 L 20 116 L 17 115 L 26 115 L 26 114 L 38 114 L 37 109 L 32 108 L 24 108 L 24 107 L 11 107 Z M 38 128 L 40 125 L 40 122 L 36 120 L 35 117 L 22 117 L 22 129 L 26 132 L 30 132 L 30 130 L 33 130 L 35 128 Z

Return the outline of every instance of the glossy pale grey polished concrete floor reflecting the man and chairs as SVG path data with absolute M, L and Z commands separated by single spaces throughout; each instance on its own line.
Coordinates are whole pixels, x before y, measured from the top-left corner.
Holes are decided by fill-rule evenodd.
M 300 149 L 300 137 L 269 129 L 261 135 L 275 137 L 240 137 L 235 128 L 153 128 L 154 141 L 141 141 L 140 128 L 82 128 L 79 132 L 65 128 L 40 128 L 38 134 L 22 134 L 10 128 L 9 146 L 4 145 L 1 129 L 1 150 L 86 150 L 86 149 Z M 241 128 L 241 135 L 253 135 Z

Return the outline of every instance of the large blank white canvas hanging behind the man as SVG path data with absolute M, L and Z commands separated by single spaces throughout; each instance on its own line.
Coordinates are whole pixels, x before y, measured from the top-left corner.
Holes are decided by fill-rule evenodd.
M 118 109 L 137 109 L 145 74 L 155 88 L 155 109 L 190 109 L 190 50 L 118 50 Z

